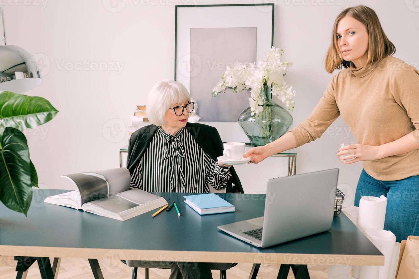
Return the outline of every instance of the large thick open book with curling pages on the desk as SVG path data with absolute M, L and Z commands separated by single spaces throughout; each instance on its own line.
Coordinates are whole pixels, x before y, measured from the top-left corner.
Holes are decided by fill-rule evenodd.
M 127 168 L 66 174 L 62 177 L 70 179 L 77 190 L 47 197 L 45 202 L 122 221 L 167 205 L 163 197 L 141 189 L 129 189 L 131 179 Z

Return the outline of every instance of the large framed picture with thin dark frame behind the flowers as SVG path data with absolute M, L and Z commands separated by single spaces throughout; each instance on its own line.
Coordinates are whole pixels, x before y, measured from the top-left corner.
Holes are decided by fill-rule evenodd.
M 199 122 L 217 128 L 222 141 L 249 141 L 237 119 L 250 92 L 212 97 L 212 88 L 235 61 L 262 59 L 273 39 L 273 3 L 176 6 L 175 80 L 197 101 Z

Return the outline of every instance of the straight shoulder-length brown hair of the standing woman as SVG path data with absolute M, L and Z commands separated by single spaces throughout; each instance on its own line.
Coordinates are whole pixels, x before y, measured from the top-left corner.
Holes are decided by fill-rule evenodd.
M 383 60 L 385 56 L 392 55 L 396 52 L 396 47 L 387 36 L 385 36 L 380 20 L 378 20 L 378 16 L 374 10 L 364 5 L 349 7 L 339 13 L 333 24 L 331 44 L 324 62 L 324 67 L 328 73 L 333 72 L 335 69 L 341 69 L 342 66 L 344 68 L 349 68 L 351 65 L 351 61 L 343 59 L 336 38 L 338 23 L 347 15 L 360 21 L 367 28 L 368 57 L 364 65 L 365 67 L 378 63 Z

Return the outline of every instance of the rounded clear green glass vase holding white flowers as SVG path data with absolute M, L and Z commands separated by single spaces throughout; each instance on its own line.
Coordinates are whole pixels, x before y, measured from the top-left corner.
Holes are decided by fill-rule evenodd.
M 252 116 L 249 108 L 243 110 L 238 123 L 249 138 L 252 147 L 264 146 L 287 133 L 292 125 L 292 115 L 287 109 L 272 101 L 271 87 L 264 84 L 261 90 L 262 112 Z

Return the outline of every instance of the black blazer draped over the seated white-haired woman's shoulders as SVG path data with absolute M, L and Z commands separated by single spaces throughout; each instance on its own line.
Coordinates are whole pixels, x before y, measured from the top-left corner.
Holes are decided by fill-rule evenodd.
M 128 159 L 127 169 L 129 173 L 134 172 L 134 168 L 140 162 L 142 155 L 150 145 L 150 141 L 153 138 L 158 126 L 147 125 L 132 133 L 128 143 Z M 222 156 L 223 146 L 220 138 L 220 134 L 217 129 L 209 125 L 201 123 L 189 123 L 186 122 L 185 129 L 191 133 L 194 140 L 198 143 L 206 154 L 213 160 L 217 160 L 218 156 Z M 241 186 L 240 179 L 237 176 L 233 166 L 230 167 L 231 177 L 225 186 L 226 193 L 243 193 L 243 187 Z M 234 185 L 232 185 L 234 183 Z

